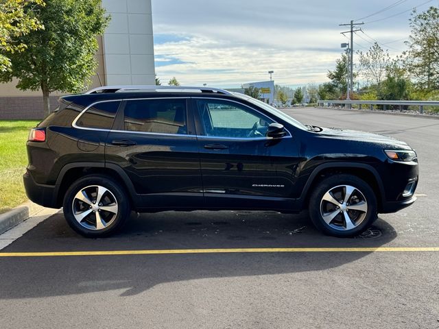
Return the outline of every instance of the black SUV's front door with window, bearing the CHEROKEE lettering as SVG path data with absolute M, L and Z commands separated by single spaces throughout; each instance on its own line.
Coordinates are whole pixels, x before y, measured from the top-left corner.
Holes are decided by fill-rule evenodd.
M 265 136 L 272 119 L 237 101 L 194 98 L 204 199 L 212 208 L 282 208 L 274 158 L 291 136 Z

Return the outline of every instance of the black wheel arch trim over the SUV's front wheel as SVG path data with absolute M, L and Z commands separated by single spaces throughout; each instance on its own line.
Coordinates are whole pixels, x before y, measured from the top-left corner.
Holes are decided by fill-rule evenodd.
M 306 207 L 309 203 L 309 197 L 311 196 L 314 186 L 329 175 L 335 175 L 337 173 L 355 175 L 368 183 L 377 195 L 378 209 L 381 209 L 385 202 L 385 190 L 378 171 L 370 166 L 370 164 L 355 162 L 331 162 L 320 164 L 316 167 L 309 175 L 305 188 L 300 196 L 300 208 Z

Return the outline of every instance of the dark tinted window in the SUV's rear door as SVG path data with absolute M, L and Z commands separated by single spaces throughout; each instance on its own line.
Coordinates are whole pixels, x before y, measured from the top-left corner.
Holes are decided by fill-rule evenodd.
M 161 134 L 187 134 L 186 99 L 139 99 L 127 101 L 125 130 Z

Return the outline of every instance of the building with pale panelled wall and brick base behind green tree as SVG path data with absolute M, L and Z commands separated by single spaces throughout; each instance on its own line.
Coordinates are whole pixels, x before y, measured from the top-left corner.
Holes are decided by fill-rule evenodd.
M 90 88 L 100 85 L 155 84 L 151 0 L 102 0 L 110 25 L 98 37 L 99 67 Z M 42 119 L 40 91 L 0 84 L 0 119 Z M 60 94 L 51 96 L 52 108 Z

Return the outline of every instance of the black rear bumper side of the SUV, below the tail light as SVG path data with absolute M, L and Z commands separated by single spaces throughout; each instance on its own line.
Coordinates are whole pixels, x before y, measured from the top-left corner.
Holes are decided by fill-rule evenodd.
M 56 185 L 38 184 L 29 173 L 23 175 L 23 182 L 26 195 L 32 202 L 47 208 L 60 208 L 57 204 Z

